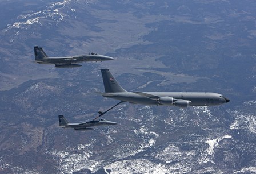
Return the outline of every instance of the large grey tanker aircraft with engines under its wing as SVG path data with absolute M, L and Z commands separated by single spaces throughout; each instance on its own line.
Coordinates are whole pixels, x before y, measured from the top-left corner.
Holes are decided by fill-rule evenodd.
M 142 105 L 165 105 L 186 108 L 188 106 L 215 106 L 230 100 L 222 94 L 209 92 L 127 92 L 119 85 L 109 69 L 101 69 L 105 93 L 103 97 Z

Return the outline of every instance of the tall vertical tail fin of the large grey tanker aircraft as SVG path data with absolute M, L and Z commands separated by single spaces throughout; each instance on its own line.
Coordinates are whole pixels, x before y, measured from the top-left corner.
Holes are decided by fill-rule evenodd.
M 102 79 L 106 93 L 127 92 L 119 85 L 115 77 L 110 73 L 109 69 L 101 69 Z

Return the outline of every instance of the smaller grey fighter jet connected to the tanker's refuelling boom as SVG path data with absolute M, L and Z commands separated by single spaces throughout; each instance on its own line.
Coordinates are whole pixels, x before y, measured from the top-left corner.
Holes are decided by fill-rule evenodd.
M 93 130 L 93 126 L 104 125 L 117 125 L 117 123 L 106 121 L 105 119 L 99 119 L 83 123 L 69 123 L 63 115 L 59 115 L 59 126 L 63 128 L 74 128 L 75 131 Z

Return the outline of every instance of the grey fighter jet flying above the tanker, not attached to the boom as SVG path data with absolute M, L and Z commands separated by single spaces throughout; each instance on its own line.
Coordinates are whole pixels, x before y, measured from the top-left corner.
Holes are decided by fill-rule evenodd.
M 34 47 L 35 62 L 38 64 L 55 64 L 56 68 L 74 68 L 82 65 L 73 64 L 83 61 L 106 61 L 113 60 L 113 57 L 98 55 L 97 53 L 89 53 L 89 55 L 77 55 L 70 57 L 48 57 L 42 47 Z

